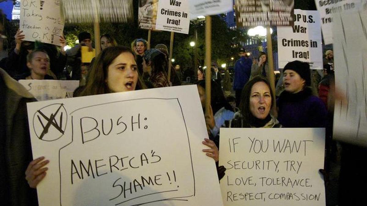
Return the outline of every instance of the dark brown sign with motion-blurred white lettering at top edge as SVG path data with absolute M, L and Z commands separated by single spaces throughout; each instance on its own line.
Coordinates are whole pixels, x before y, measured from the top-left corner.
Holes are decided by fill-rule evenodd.
M 292 25 L 294 0 L 235 0 L 237 27 Z

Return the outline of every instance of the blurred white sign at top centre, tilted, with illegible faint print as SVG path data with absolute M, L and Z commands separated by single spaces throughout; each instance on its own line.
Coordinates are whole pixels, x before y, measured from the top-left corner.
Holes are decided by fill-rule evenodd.
M 188 0 L 190 5 L 190 18 L 223 14 L 233 10 L 232 0 Z

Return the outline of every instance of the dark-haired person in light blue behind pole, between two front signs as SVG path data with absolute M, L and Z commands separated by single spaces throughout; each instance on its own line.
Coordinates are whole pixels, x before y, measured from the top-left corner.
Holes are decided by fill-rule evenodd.
M 206 101 L 206 84 L 205 80 L 197 82 L 197 90 L 200 96 L 201 106 L 205 111 Z M 233 118 L 235 114 L 234 108 L 227 102 L 222 92 L 222 88 L 217 82 L 211 80 L 211 100 L 210 114 L 206 114 L 205 121 L 210 138 L 219 148 L 219 129 L 226 126 L 226 121 Z

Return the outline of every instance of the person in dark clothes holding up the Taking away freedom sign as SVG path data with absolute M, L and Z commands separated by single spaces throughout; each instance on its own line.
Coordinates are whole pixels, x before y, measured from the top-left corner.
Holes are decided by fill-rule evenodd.
M 29 72 L 27 66 L 27 55 L 32 52 L 33 49 L 43 49 L 47 52 L 50 58 L 50 70 L 48 70 L 48 75 L 56 79 L 56 74 L 62 72 L 66 64 L 66 53 L 64 47 L 66 46 L 66 41 L 63 36 L 60 36 L 60 52 L 55 45 L 44 44 L 39 42 L 23 41 L 25 35 L 23 31 L 18 29 L 14 36 L 15 38 L 15 48 L 9 54 L 6 60 L 6 68 L 4 68 L 11 77 Z

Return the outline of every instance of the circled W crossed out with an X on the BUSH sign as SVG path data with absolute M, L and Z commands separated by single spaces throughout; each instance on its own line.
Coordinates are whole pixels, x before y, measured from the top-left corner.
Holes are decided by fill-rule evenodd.
M 56 111 L 52 110 L 54 108 L 57 108 L 57 110 Z M 55 112 L 51 113 L 50 117 L 48 117 L 45 113 L 47 113 L 47 112 L 50 113 L 50 110 L 55 111 Z M 45 111 L 47 111 L 47 112 L 45 112 Z M 63 114 L 65 114 L 65 115 L 63 115 Z M 56 120 L 57 116 L 59 116 L 59 123 Z M 38 122 L 35 119 L 36 117 L 37 117 Z M 63 119 L 63 117 L 65 117 L 65 118 Z M 66 114 L 66 110 L 65 110 L 65 107 L 63 106 L 63 104 L 51 104 L 47 107 L 43 107 L 43 108 L 37 110 L 36 113 L 34 114 L 34 117 L 33 117 L 34 132 L 36 133 L 37 137 L 40 140 L 55 141 L 55 140 L 59 139 L 65 133 L 66 119 L 67 119 L 67 114 Z M 42 120 L 46 120 L 46 122 L 47 122 L 46 125 L 44 124 L 44 122 Z M 65 122 L 65 124 L 63 124 L 63 122 Z M 38 125 L 38 126 L 35 126 L 35 124 Z M 40 128 L 39 125 L 41 125 L 42 128 Z M 58 132 L 57 133 L 55 133 L 55 132 L 50 133 L 50 128 L 55 128 Z M 42 131 L 42 132 L 39 135 L 40 131 Z

